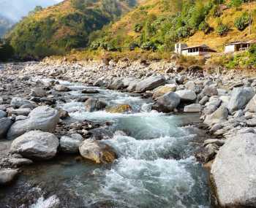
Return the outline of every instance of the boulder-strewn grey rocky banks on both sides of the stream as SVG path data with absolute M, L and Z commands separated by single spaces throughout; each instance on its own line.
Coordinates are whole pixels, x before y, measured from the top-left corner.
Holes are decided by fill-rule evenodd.
M 108 123 L 63 121 L 68 113 L 56 109 L 56 101 L 63 100 L 62 93 L 70 89 L 56 80 L 67 80 L 152 97 L 151 108 L 159 112 L 200 113 L 202 126 L 212 139 L 204 141 L 196 157 L 211 167 L 211 182 L 219 205 L 256 207 L 256 77 L 252 74 L 244 76 L 242 72 L 213 66 L 186 68 L 176 63 L 127 60 L 67 63 L 46 59 L 4 67 L 0 71 L 0 136 L 15 140 L 11 153 L 1 158 L 0 184 L 13 180 L 20 166 L 52 158 L 58 148 L 64 153 L 80 152 L 83 158 L 96 163 L 110 163 L 116 158 L 110 147 L 87 139 L 89 130 Z M 42 79 L 46 77 L 53 80 Z M 86 96 L 80 101 L 89 112 L 130 110 L 127 105 L 108 109 L 104 101 Z

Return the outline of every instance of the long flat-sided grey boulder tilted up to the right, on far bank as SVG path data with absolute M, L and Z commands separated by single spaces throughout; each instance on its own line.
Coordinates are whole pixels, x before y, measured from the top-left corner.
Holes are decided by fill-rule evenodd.
M 146 90 L 154 90 L 154 88 L 157 88 L 161 85 L 165 85 L 165 77 L 151 76 L 138 82 L 136 85 L 136 91 L 144 93 Z

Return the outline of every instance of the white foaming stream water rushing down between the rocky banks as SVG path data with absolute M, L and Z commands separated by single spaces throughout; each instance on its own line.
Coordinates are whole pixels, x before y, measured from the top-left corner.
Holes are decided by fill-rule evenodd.
M 207 173 L 193 157 L 206 135 L 189 125 L 198 123 L 199 115 L 165 115 L 151 111 L 150 99 L 99 88 L 86 96 L 130 104 L 132 113 L 86 112 L 75 99 L 89 87 L 62 83 L 72 91 L 63 94 L 67 103 L 59 106 L 73 120 L 113 123 L 105 129 L 113 138 L 102 142 L 116 150 L 118 159 L 98 165 L 59 155 L 26 167 L 14 185 L 0 189 L 0 207 L 210 207 Z

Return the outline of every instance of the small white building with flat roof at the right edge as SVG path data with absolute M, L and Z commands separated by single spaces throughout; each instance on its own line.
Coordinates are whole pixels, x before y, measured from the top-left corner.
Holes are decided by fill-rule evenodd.
M 225 53 L 235 53 L 238 51 L 248 50 L 252 44 L 255 44 L 255 40 L 241 41 L 241 42 L 230 42 L 225 45 Z

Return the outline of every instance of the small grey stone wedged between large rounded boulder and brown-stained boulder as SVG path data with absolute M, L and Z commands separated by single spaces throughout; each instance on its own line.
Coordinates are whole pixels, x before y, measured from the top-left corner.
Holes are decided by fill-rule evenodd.
M 71 136 L 61 136 L 60 147 L 64 153 L 78 153 L 79 146 L 83 142 L 83 136 L 72 134 Z

